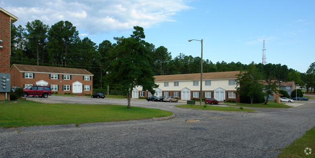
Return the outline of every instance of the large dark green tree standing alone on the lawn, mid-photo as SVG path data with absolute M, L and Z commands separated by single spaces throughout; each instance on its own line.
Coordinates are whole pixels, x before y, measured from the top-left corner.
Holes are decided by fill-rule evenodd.
M 134 27 L 134 32 L 129 38 L 121 38 L 118 45 L 110 52 L 110 73 L 107 78 L 111 82 L 123 85 L 123 93 L 127 95 L 130 109 L 132 90 L 136 86 L 142 86 L 142 90 L 148 90 L 154 94 L 157 85 L 154 82 L 154 73 L 150 63 L 152 58 L 148 54 L 147 44 L 144 40 L 143 28 Z

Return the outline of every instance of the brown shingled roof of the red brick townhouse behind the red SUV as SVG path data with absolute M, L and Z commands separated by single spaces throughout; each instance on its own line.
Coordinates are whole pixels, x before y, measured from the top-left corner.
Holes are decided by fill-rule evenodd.
M 90 73 L 89 71 L 85 69 L 78 69 L 78 68 L 36 66 L 36 65 L 23 65 L 23 64 L 13 64 L 11 69 L 13 67 L 16 67 L 16 69 L 19 72 L 93 76 L 93 74 Z

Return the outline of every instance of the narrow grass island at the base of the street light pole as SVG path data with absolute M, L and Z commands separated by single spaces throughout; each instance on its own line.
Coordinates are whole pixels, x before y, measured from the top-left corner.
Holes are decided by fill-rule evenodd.
M 212 111 L 255 111 L 252 109 L 239 109 L 239 108 L 233 108 L 233 107 L 219 107 L 219 106 L 210 106 L 207 105 L 204 107 L 204 105 L 192 105 L 192 104 L 184 104 L 184 105 L 175 105 L 175 107 L 181 107 L 181 108 L 191 108 L 191 109 L 202 109 L 202 110 L 212 110 Z

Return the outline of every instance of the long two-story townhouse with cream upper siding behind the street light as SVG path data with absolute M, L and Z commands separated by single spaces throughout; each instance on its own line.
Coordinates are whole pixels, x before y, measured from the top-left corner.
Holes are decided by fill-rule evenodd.
M 203 73 L 202 94 L 200 94 L 200 73 L 155 76 L 158 88 L 155 89 L 154 95 L 173 96 L 181 100 L 212 97 L 219 101 L 231 99 L 239 102 L 236 94 L 236 75 L 239 73 L 239 71 Z M 151 95 L 148 91 L 142 91 L 141 86 L 132 91 L 132 98 Z

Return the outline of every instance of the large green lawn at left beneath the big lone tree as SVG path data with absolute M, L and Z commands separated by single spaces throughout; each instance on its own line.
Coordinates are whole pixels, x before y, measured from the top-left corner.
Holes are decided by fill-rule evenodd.
M 158 109 L 102 104 L 44 104 L 28 100 L 0 102 L 0 127 L 82 124 L 169 116 Z

